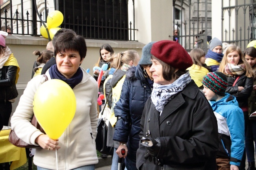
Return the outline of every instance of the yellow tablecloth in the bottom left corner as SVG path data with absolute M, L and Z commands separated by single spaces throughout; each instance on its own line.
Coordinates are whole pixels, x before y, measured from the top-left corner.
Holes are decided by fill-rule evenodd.
M 27 161 L 25 148 L 19 148 L 8 140 L 10 129 L 0 132 L 0 163 L 11 162 L 10 169 L 14 170 Z

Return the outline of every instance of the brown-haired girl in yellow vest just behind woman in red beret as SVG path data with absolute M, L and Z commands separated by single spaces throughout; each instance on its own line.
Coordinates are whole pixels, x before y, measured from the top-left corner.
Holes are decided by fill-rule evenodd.
M 193 65 L 187 69 L 189 70 L 191 79 L 193 79 L 202 90 L 204 88 L 202 84 L 203 77 L 211 71 L 211 68 L 207 67 L 205 64 L 204 50 L 194 48 L 190 51 L 189 55 L 192 58 Z

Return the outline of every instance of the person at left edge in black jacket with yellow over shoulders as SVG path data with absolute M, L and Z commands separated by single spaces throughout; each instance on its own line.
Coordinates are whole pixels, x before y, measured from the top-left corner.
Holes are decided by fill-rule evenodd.
M 8 33 L 0 31 L 0 114 L 2 123 L 8 126 L 12 112 L 12 102 L 18 96 L 16 83 L 19 78 L 19 64 L 6 46 Z

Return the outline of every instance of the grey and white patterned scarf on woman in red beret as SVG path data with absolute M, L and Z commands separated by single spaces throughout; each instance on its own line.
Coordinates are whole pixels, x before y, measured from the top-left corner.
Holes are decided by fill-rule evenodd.
M 191 82 L 191 77 L 189 71 L 187 71 L 172 84 L 160 85 L 154 83 L 151 100 L 155 105 L 156 110 L 158 110 L 158 112 L 163 111 L 165 104 L 171 101 L 176 93 L 182 91 L 187 86 L 187 84 L 189 84 L 189 82 Z

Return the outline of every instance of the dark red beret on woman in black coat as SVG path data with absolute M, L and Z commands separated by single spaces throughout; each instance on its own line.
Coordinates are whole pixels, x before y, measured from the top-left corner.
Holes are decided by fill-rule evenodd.
M 193 62 L 187 51 L 176 41 L 162 40 L 155 42 L 151 54 L 174 68 L 186 70 Z

